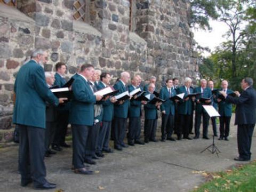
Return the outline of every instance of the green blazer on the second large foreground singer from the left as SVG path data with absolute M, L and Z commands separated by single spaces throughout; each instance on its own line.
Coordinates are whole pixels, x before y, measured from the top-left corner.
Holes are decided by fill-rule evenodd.
M 79 75 L 72 84 L 73 100 L 69 110 L 69 123 L 92 126 L 96 97 L 90 85 Z

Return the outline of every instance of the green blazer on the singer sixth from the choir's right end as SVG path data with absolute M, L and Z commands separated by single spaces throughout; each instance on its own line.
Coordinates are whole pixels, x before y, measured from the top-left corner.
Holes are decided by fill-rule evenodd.
M 171 87 L 171 95 L 169 95 L 168 89 L 166 86 L 162 87 L 159 93 L 159 98 L 166 100 L 161 106 L 161 111 L 165 110 L 166 115 L 174 115 L 175 114 L 175 102 L 169 99 L 176 95 L 176 91 Z

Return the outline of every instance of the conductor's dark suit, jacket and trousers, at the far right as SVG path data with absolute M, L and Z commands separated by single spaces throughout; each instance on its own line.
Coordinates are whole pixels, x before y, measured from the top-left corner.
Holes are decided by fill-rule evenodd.
M 256 91 L 252 87 L 244 90 L 240 97 L 227 96 L 226 101 L 236 104 L 235 125 L 237 129 L 237 143 L 239 157 L 251 158 L 251 142 L 256 122 Z

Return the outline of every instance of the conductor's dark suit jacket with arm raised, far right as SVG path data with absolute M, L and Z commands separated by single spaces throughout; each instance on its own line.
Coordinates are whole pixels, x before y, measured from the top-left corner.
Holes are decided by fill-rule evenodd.
M 249 87 L 240 97 L 227 96 L 226 101 L 236 104 L 235 125 L 255 124 L 256 121 L 256 91 Z

